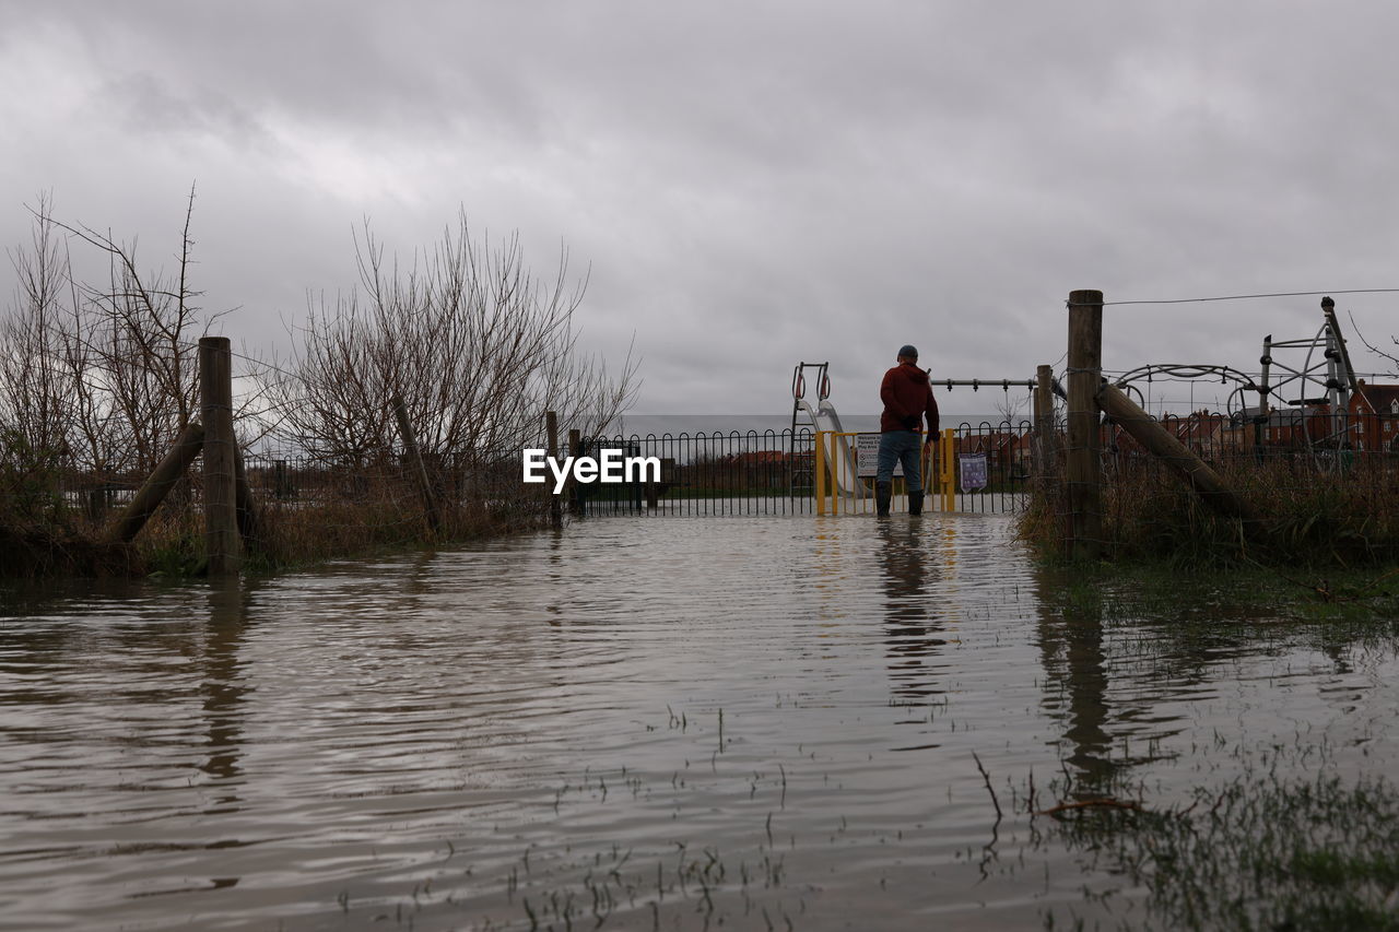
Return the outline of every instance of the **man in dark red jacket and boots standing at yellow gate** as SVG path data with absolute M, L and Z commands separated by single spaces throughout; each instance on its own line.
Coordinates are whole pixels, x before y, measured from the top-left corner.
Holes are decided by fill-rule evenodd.
M 908 514 L 923 514 L 923 469 L 919 458 L 918 428 L 928 414 L 928 439 L 932 452 L 937 441 L 937 399 L 928 381 L 928 372 L 918 368 L 918 348 L 904 346 L 898 351 L 898 365 L 884 374 L 879 386 L 884 413 L 879 418 L 879 466 L 874 473 L 874 508 L 880 518 L 888 515 L 894 494 L 894 463 L 904 465 L 908 483 Z

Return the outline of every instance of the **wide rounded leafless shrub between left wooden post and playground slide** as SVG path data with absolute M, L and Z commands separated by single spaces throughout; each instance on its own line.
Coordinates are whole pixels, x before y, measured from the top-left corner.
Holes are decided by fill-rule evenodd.
M 294 360 L 267 383 L 280 432 L 308 452 L 351 465 L 388 458 L 395 396 L 434 456 L 537 442 L 546 410 L 565 428 L 600 431 L 630 406 L 631 353 L 613 374 L 578 348 L 586 277 L 571 284 L 567 250 L 537 278 L 518 234 L 474 239 L 463 213 L 411 267 L 386 260 L 368 224 L 355 255 L 361 287 L 312 306 Z

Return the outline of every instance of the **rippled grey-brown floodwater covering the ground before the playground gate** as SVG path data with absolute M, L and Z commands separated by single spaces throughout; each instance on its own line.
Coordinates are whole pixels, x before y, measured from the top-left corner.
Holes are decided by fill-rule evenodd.
M 0 928 L 1093 921 L 1142 891 L 1032 809 L 1277 744 L 1395 763 L 1392 649 L 1181 592 L 1125 616 L 995 515 L 7 591 Z

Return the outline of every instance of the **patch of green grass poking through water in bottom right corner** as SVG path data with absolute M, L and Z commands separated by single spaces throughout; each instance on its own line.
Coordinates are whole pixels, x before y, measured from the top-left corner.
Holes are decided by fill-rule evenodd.
M 1245 774 L 1164 813 L 1083 810 L 1063 834 L 1146 887 L 1122 928 L 1399 929 L 1399 788 L 1382 778 Z

